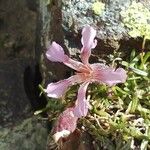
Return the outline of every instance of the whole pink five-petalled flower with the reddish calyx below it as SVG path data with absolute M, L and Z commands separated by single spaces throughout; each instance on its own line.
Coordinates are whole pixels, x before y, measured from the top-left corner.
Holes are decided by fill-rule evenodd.
M 86 99 L 86 91 L 90 83 L 97 82 L 113 86 L 117 83 L 124 83 L 126 81 L 127 75 L 123 68 L 115 69 L 101 63 L 89 63 L 91 49 L 94 49 L 97 45 L 95 36 L 96 30 L 91 26 L 87 25 L 83 28 L 81 38 L 82 49 L 80 53 L 81 62 L 67 56 L 63 48 L 56 42 L 52 42 L 46 52 L 46 57 L 50 61 L 61 62 L 76 70 L 76 74 L 68 79 L 48 84 L 45 89 L 48 97 L 60 98 L 71 85 L 80 84 L 75 106 L 67 108 L 58 118 L 55 126 L 55 141 L 73 132 L 76 128 L 78 118 L 87 115 L 89 102 Z

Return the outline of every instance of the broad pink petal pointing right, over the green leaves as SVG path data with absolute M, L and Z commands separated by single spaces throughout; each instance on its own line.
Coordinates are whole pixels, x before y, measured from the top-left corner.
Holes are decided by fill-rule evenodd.
M 127 79 L 126 71 L 123 68 L 114 69 L 101 64 L 92 64 L 93 80 L 113 86 L 117 83 L 124 83 Z

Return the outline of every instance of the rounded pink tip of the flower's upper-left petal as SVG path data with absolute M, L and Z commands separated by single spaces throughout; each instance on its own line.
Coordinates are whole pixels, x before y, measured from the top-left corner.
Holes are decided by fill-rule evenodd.
M 48 47 L 46 56 L 50 61 L 54 62 L 65 62 L 69 59 L 69 57 L 65 55 L 63 48 L 56 42 L 52 42 Z

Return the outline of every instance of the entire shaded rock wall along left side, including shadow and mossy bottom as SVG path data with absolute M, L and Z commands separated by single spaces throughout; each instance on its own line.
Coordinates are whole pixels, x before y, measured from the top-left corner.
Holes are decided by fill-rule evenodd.
M 46 147 L 46 123 L 32 116 L 40 80 L 35 32 L 36 13 L 25 0 L 0 1 L 0 150 Z

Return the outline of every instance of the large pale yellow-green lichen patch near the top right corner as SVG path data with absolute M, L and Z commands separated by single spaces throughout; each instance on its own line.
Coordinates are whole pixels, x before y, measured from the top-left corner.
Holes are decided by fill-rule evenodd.
M 150 10 L 144 4 L 133 1 L 129 8 L 122 10 L 120 14 L 131 37 L 150 39 Z

